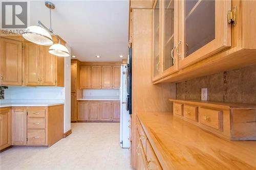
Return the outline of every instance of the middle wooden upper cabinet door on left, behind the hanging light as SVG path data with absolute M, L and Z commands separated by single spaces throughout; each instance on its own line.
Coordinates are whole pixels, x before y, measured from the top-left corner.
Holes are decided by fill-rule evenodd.
M 40 46 L 25 43 L 25 85 L 37 86 L 40 84 Z

